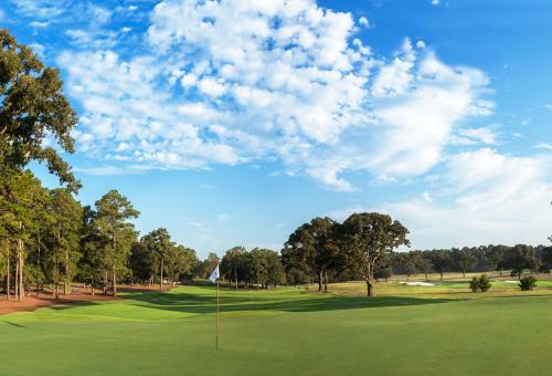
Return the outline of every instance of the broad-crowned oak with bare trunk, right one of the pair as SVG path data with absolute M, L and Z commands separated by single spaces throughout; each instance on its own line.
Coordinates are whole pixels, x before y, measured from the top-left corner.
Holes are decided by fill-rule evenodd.
M 378 212 L 353 213 L 342 224 L 350 260 L 360 269 L 372 296 L 376 262 L 400 246 L 410 247 L 408 230 L 397 220 Z

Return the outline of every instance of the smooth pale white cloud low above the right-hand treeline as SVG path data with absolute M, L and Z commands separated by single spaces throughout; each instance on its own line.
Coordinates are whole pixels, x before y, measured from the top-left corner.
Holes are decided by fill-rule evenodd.
M 330 212 L 389 212 L 411 231 L 417 249 L 488 243 L 546 242 L 552 221 L 548 157 L 514 157 L 489 148 L 460 153 L 447 161 L 444 186 L 435 195 Z

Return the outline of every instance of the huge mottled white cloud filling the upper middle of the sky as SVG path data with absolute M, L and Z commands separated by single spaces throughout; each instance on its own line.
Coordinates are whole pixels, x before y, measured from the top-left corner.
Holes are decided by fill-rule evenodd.
M 357 38 L 367 21 L 311 0 L 167 0 L 140 54 L 68 31 L 91 46 L 59 59 L 84 109 L 79 145 L 158 168 L 279 159 L 347 191 L 351 170 L 424 174 L 460 121 L 491 112 L 488 80 L 408 39 L 375 56 Z

